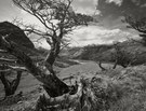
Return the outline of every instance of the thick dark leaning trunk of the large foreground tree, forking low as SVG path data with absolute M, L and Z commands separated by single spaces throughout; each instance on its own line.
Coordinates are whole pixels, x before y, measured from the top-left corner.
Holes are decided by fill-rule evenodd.
M 53 71 L 52 65 L 56 57 L 54 56 L 53 50 L 51 50 L 50 56 L 47 57 L 45 67 L 41 69 L 40 67 L 36 66 L 32 59 L 21 48 L 18 48 L 14 42 L 8 42 L 2 37 L 0 38 L 0 45 L 10 54 L 14 55 L 18 60 L 21 60 L 23 65 L 29 70 L 29 72 L 37 80 L 43 83 L 44 89 L 51 97 L 57 97 L 69 92 L 69 87 L 64 82 L 62 82 Z M 57 46 L 58 44 L 55 45 Z M 50 61 L 51 59 L 52 61 Z

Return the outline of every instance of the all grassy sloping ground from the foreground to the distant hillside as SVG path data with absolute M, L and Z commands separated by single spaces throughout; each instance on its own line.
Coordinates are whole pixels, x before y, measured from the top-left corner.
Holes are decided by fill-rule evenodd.
M 70 48 L 68 53 L 66 51 L 64 52 L 66 54 L 62 53 L 54 64 L 57 77 L 68 85 L 75 84 L 76 81 L 79 82 L 82 78 L 87 80 L 87 87 L 91 87 L 90 93 L 93 93 L 95 97 L 94 105 L 90 106 L 91 111 L 146 110 L 146 66 L 142 65 L 146 63 L 146 47 L 132 41 L 122 42 L 120 46 L 129 57 L 135 58 L 135 67 L 121 68 L 118 66 L 112 69 L 112 64 L 110 64 L 114 63 L 112 55 L 115 54 L 112 45 Z M 22 46 L 22 48 L 26 47 Z M 27 48 L 27 54 L 34 60 L 43 60 L 47 52 L 49 51 L 42 48 Z M 1 56 L 11 58 L 8 54 Z M 12 57 L 12 59 L 15 58 Z M 107 70 L 102 71 L 95 63 L 97 60 L 105 61 L 103 67 Z M 13 79 L 14 74 L 9 78 Z M 21 99 L 10 98 L 0 102 L 0 111 L 32 111 L 37 98 L 44 91 L 40 82 L 24 72 L 16 94 L 19 92 L 23 93 L 23 97 Z M 3 85 L 0 82 L 0 98 L 3 97 Z M 82 109 L 83 111 L 87 106 Z

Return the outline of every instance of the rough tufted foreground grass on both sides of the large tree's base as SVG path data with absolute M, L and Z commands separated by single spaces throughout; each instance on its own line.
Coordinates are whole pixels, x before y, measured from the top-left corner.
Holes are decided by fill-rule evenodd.
M 90 74 L 90 73 L 89 73 Z M 93 73 L 92 73 L 93 74 Z M 88 105 L 83 106 L 82 111 L 146 111 L 146 67 L 137 66 L 127 69 L 109 69 L 98 71 L 88 79 L 88 87 L 94 96 L 94 101 L 85 99 Z M 29 96 L 28 96 L 29 95 Z M 34 111 L 39 92 L 29 93 L 27 100 L 22 100 L 13 106 L 2 107 L 0 111 L 13 109 L 14 111 Z M 78 102 L 74 102 L 69 108 L 78 108 Z M 64 105 L 62 105 L 64 106 Z M 6 110 L 4 110 L 6 109 Z M 63 111 L 62 109 L 56 111 Z

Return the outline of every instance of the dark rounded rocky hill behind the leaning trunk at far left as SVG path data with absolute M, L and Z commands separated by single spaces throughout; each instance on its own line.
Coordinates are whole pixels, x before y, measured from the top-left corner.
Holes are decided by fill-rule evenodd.
M 19 27 L 13 25 L 12 23 L 9 22 L 0 23 L 0 34 L 1 36 L 9 34 L 6 40 L 13 41 L 18 45 L 26 46 L 29 48 L 35 47 L 32 42 L 26 37 L 24 31 Z

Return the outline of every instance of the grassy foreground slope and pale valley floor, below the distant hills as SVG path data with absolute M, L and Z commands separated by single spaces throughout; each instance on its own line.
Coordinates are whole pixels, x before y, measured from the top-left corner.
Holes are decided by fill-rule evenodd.
M 74 84 L 80 78 L 91 81 L 96 96 L 96 109 L 98 111 L 145 111 L 146 110 L 146 66 L 130 68 L 110 69 L 111 65 L 105 64 L 107 71 L 101 71 L 93 61 L 81 61 L 81 65 L 70 66 L 62 69 L 58 73 L 61 79 L 74 77 L 71 81 L 65 80 L 68 84 Z M 25 84 L 22 84 L 25 83 Z M 24 92 L 24 98 L 11 106 L 2 106 L 14 111 L 32 111 L 37 97 L 43 92 L 40 83 L 30 74 L 24 74 L 17 92 Z M 92 110 L 94 111 L 94 110 Z M 97 110 L 95 110 L 97 111 Z

